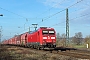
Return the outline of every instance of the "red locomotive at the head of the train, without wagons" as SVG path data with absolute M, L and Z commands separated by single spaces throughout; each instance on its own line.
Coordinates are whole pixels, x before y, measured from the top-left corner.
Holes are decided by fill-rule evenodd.
M 28 35 L 28 46 L 56 47 L 56 32 L 53 28 L 41 27 Z

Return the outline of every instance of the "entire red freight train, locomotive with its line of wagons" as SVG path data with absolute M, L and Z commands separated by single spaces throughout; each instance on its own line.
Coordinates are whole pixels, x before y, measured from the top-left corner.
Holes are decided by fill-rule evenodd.
M 25 32 L 2 42 L 31 48 L 55 48 L 56 32 L 54 28 L 40 27 L 36 31 Z

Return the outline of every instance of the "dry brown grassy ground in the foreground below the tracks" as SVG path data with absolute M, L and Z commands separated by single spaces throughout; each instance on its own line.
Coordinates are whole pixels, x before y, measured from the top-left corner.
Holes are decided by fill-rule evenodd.
M 22 47 L 0 47 L 0 60 L 86 60 Z

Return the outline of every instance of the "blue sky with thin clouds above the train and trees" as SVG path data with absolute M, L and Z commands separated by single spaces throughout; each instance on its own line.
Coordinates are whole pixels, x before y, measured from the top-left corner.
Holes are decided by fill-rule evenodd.
M 90 0 L 0 0 L 2 40 L 39 27 L 52 27 L 66 33 L 66 8 L 69 14 L 70 37 L 82 32 L 90 35 Z

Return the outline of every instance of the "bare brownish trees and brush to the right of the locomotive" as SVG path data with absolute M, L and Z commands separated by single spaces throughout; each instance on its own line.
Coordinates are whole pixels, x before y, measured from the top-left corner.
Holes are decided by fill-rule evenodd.
M 60 33 L 57 33 L 56 37 L 57 37 L 57 46 L 66 46 L 67 44 L 69 44 L 70 46 L 89 44 L 89 46 L 90 46 L 90 35 L 83 38 L 82 32 L 75 33 L 74 36 L 69 38 L 69 41 L 66 40 L 65 33 L 63 33 L 61 35 L 60 35 Z

